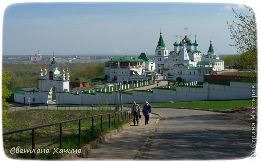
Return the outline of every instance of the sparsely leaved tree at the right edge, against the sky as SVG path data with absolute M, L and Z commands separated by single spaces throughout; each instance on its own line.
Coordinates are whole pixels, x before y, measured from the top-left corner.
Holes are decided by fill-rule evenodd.
M 257 29 L 253 9 L 246 5 L 245 8 L 249 11 L 248 15 L 237 13 L 233 8 L 238 22 L 233 20 L 232 24 L 227 24 L 231 32 L 230 37 L 235 40 L 235 44 L 230 46 L 235 46 L 241 54 L 239 64 L 250 69 L 257 64 Z

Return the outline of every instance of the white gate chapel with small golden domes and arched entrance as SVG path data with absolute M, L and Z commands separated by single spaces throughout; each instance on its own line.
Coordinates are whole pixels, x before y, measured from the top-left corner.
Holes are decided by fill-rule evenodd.
M 14 94 L 15 102 L 24 104 L 31 103 L 53 103 L 59 104 L 63 101 L 62 93 L 69 92 L 70 75 L 69 70 L 62 73 L 59 71 L 59 65 L 55 61 L 53 53 L 53 60 L 49 64 L 48 70 L 46 68 L 40 69 L 39 74 L 39 88 L 22 88 L 19 93 Z M 55 91 L 55 95 L 53 92 Z

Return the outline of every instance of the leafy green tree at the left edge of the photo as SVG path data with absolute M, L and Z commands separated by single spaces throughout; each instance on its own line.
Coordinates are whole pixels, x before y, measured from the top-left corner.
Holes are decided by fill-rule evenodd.
M 7 85 L 11 80 L 11 72 L 3 71 L 2 72 L 2 122 L 3 126 L 8 126 L 12 123 L 12 119 L 8 119 L 5 110 L 9 110 L 10 106 L 6 101 L 7 98 L 11 96 L 9 90 L 7 89 Z

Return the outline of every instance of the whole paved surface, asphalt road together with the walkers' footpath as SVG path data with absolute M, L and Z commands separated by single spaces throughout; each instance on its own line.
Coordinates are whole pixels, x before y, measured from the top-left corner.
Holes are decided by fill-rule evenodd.
M 249 111 L 216 113 L 154 108 L 164 116 L 156 126 L 131 126 L 82 160 L 212 160 L 249 157 Z M 77 159 L 79 160 L 79 159 Z

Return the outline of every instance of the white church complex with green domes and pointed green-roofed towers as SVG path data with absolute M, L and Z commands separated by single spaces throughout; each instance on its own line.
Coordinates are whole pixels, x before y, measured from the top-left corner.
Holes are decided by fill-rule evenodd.
M 162 33 L 155 49 L 156 72 L 162 74 L 165 78 L 172 77 L 173 81 L 203 82 L 204 75 L 215 75 L 217 71 L 224 70 L 224 61 L 215 54 L 210 40 L 210 46 L 207 55 L 198 50 L 198 43 L 192 43 L 186 34 L 180 43 L 176 41 L 173 44 L 174 50 L 168 53 L 167 47 L 163 41 Z M 181 37 L 182 38 L 182 37 Z

